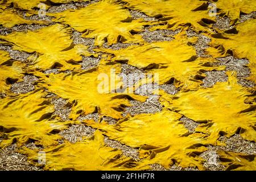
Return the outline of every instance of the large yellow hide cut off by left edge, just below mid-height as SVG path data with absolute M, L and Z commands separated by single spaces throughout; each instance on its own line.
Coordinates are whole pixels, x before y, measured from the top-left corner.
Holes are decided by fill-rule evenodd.
M 1 147 L 11 144 L 14 139 L 19 145 L 36 140 L 36 144 L 50 146 L 56 144 L 59 135 L 50 134 L 53 129 L 64 129 L 64 122 L 51 121 L 53 105 L 46 102 L 43 89 L 32 93 L 6 97 L 0 100 L 0 126 L 7 134 Z

